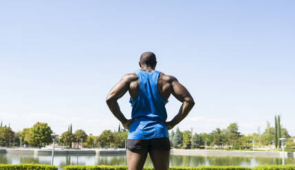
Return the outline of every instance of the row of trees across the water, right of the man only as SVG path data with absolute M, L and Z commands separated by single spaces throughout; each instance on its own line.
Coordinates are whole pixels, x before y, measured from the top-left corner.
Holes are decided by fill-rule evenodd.
M 274 145 L 281 148 L 279 138 L 287 138 L 287 147 L 295 147 L 291 136 L 281 125 L 281 116 L 275 116 L 275 127 L 267 121 L 267 127 L 261 134 L 260 127 L 257 133 L 241 134 L 238 123 L 230 123 L 225 129 L 216 128 L 210 133 L 194 133 L 193 130 L 180 132 L 179 128 L 172 130 L 170 135 L 171 145 L 175 148 L 228 148 L 228 149 L 245 149 L 254 145 L 267 146 Z

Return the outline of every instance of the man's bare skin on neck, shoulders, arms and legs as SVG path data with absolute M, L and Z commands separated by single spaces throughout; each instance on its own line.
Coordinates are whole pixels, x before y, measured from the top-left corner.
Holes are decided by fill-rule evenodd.
M 148 66 L 146 64 L 142 64 L 141 62 L 139 64 L 140 68 L 143 71 L 155 71 L 155 66 Z M 188 115 L 188 112 L 190 112 L 190 110 L 195 105 L 195 101 L 193 100 L 193 97 L 191 97 L 190 93 L 188 93 L 188 90 L 186 90 L 186 88 L 182 86 L 182 84 L 180 84 L 177 79 L 171 75 L 164 75 L 164 73 L 160 73 L 160 76 L 157 80 L 157 88 L 160 92 L 160 95 L 164 99 L 168 99 L 172 94 L 176 99 L 182 102 L 182 106 L 179 108 L 176 116 L 171 121 L 163 121 L 163 123 L 167 125 L 168 130 L 171 130 L 173 127 L 175 127 L 175 125 L 177 125 Z M 127 75 L 124 75 L 120 82 L 118 82 L 118 84 L 111 88 L 109 95 L 107 95 L 107 106 L 109 106 L 109 109 L 111 110 L 113 115 L 122 123 L 122 125 L 126 129 L 129 129 L 130 124 L 136 119 L 126 119 L 126 117 L 124 117 L 124 114 L 122 114 L 117 101 L 125 93 L 127 93 L 127 91 L 129 92 L 130 96 L 135 99 L 136 97 L 138 97 L 139 90 L 140 82 L 138 80 L 138 75 L 136 75 L 135 73 L 129 73 Z M 129 151 L 127 149 L 128 169 L 143 169 L 144 162 L 148 153 L 151 157 L 155 170 L 169 169 L 169 150 L 138 149 L 136 151 Z

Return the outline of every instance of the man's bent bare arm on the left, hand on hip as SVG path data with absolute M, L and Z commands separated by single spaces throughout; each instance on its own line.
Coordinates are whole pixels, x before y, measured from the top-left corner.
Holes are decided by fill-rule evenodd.
M 129 90 L 129 84 L 131 82 L 131 74 L 124 75 L 120 82 L 111 88 L 111 91 L 107 95 L 107 106 L 109 106 L 109 110 L 113 113 L 113 115 L 122 123 L 124 128 L 129 129 L 130 123 L 132 123 L 133 119 L 126 119 L 124 114 L 122 114 L 120 110 L 120 106 L 118 104 L 118 99 L 120 99 L 127 91 Z

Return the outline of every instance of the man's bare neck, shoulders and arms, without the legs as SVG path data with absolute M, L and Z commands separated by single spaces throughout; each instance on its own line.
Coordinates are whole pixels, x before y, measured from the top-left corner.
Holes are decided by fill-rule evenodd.
M 141 63 L 139 64 L 143 71 L 155 71 L 154 66 L 146 66 L 142 65 Z M 171 121 L 164 122 L 164 124 L 168 126 L 168 130 L 171 130 L 188 115 L 190 110 L 195 105 L 195 101 L 188 90 L 186 90 L 186 88 L 171 75 L 164 75 L 164 73 L 160 73 L 159 79 L 157 80 L 157 88 L 160 92 L 160 95 L 164 99 L 168 99 L 172 94 L 176 99 L 182 102 L 182 106 L 179 108 L 178 114 L 176 114 L 176 116 Z M 130 124 L 135 121 L 135 119 L 126 119 L 126 117 L 124 117 L 124 114 L 122 114 L 120 110 L 118 99 L 127 93 L 127 91 L 129 92 L 132 99 L 135 99 L 138 96 L 139 90 L 140 81 L 138 80 L 138 75 L 136 75 L 136 73 L 129 73 L 124 75 L 120 82 L 113 86 L 107 95 L 107 106 L 109 106 L 109 109 L 113 115 L 126 129 L 129 129 Z

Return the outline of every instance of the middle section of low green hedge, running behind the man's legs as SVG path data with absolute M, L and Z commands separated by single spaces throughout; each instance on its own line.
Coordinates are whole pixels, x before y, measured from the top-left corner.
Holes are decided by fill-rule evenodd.
M 109 165 L 69 165 L 63 170 L 128 170 L 127 166 L 109 166 Z M 144 170 L 153 170 L 153 167 L 144 167 Z M 209 167 L 170 167 L 169 170 L 251 170 L 249 167 L 237 166 L 209 166 Z

